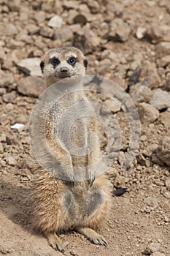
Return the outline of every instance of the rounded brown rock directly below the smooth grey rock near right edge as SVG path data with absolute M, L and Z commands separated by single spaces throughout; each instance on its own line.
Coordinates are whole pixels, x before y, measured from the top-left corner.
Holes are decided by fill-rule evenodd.
M 139 104 L 139 116 L 142 123 L 150 124 L 158 119 L 159 111 L 152 105 L 142 102 Z

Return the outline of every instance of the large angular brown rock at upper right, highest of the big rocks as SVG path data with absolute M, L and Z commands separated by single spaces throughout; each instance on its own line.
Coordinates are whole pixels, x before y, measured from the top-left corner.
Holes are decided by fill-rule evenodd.
M 131 29 L 128 23 L 125 23 L 125 21 L 120 18 L 115 18 L 110 23 L 109 31 L 104 37 L 115 42 L 125 42 L 128 40 L 130 32 Z

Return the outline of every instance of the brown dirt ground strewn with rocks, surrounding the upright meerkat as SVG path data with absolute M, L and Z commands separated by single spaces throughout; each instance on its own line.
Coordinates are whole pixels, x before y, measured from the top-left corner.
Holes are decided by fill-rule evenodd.
M 111 155 L 107 175 L 113 190 L 126 187 L 127 192 L 112 197 L 100 230 L 108 246 L 74 232 L 61 234 L 66 255 L 169 256 L 169 0 L 0 0 L 0 13 L 0 255 L 62 255 L 31 225 L 34 160 L 28 123 L 46 86 L 39 58 L 49 48 L 75 45 L 87 56 L 88 74 L 115 80 L 133 99 L 141 137 L 134 161 L 123 170 L 130 136 L 123 108 L 98 99 L 121 129 L 120 152 Z M 112 121 L 112 115 L 105 113 L 105 119 Z M 23 127 L 12 129 L 14 124 Z

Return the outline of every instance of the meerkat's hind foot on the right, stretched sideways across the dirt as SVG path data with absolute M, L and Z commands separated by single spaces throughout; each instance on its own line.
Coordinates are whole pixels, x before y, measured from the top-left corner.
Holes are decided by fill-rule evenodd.
M 76 230 L 78 233 L 88 238 L 94 244 L 107 246 L 107 241 L 93 229 L 89 227 L 77 227 Z

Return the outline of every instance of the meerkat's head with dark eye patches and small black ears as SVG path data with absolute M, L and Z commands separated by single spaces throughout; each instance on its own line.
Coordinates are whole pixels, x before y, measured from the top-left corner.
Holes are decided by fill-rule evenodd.
M 53 48 L 48 50 L 40 63 L 47 84 L 65 78 L 72 79 L 85 75 L 88 61 L 81 50 L 74 47 Z

